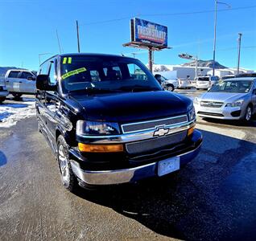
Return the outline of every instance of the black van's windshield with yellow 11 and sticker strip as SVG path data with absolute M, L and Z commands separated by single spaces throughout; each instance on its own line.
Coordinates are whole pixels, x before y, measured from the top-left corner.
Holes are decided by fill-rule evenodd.
M 109 55 L 61 57 L 64 92 L 140 92 L 162 90 L 138 59 Z

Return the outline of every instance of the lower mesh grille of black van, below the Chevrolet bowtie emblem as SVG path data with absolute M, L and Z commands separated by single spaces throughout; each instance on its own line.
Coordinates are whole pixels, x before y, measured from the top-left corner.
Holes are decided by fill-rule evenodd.
M 164 137 L 156 137 L 154 139 L 149 139 L 146 141 L 136 141 L 126 144 L 126 151 L 130 154 L 145 153 L 148 151 L 155 151 L 158 149 L 163 149 L 169 145 L 175 145 L 184 141 L 187 137 L 188 130 L 175 133 L 172 135 L 167 135 Z

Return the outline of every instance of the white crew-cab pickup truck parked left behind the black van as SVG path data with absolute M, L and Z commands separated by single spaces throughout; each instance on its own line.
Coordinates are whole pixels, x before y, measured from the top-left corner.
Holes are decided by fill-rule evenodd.
M 35 75 L 23 69 L 10 69 L 6 72 L 5 83 L 7 91 L 19 98 L 23 94 L 35 94 Z

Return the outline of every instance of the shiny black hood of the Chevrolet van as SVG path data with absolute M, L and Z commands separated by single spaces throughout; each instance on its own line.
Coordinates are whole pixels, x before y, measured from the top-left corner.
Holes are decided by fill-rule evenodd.
M 192 106 L 192 100 L 167 91 L 72 94 L 70 98 L 81 106 L 85 120 L 119 123 L 177 116 Z

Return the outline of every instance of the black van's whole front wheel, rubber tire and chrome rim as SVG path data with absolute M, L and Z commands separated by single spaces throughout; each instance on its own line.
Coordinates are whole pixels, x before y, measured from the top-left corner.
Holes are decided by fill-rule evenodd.
M 74 192 L 78 186 L 75 174 L 68 157 L 68 145 L 63 136 L 60 135 L 57 140 L 57 160 L 60 168 L 60 178 L 63 186 Z

